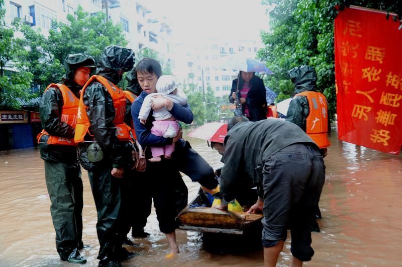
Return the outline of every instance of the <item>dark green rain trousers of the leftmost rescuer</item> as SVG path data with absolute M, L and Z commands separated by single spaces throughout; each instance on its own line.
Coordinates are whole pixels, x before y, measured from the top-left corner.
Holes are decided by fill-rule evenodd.
M 62 260 L 82 248 L 82 180 L 78 163 L 64 164 L 45 160 L 46 187 L 49 193 L 56 249 Z

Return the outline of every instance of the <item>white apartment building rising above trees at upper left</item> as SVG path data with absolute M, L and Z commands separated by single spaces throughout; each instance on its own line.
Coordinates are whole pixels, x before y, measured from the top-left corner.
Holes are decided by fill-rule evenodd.
M 146 3 L 145 1 L 143 1 Z M 67 22 L 80 5 L 89 14 L 104 12 L 115 24 L 121 24 L 128 48 L 134 52 L 151 48 L 169 60 L 172 29 L 166 18 L 158 18 L 141 1 L 135 0 L 12 0 L 5 1 L 6 25 L 20 18 L 48 36 L 52 21 Z M 16 33 L 19 37 L 20 34 Z M 173 60 L 170 60 L 173 62 Z

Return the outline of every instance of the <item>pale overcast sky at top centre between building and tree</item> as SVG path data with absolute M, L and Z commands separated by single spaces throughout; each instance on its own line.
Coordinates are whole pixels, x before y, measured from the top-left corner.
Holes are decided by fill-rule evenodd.
M 266 6 L 261 6 L 261 0 L 147 0 L 145 3 L 158 16 L 168 18 L 177 41 L 210 37 L 260 40 L 260 30 L 268 30 Z

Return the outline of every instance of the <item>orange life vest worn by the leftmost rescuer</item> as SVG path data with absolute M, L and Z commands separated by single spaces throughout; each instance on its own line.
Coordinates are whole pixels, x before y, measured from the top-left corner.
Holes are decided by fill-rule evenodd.
M 63 96 L 63 107 L 61 109 L 61 121 L 67 123 L 71 127 L 75 128 L 77 124 L 77 111 L 78 111 L 78 98 L 71 92 L 71 90 L 65 86 L 64 84 L 50 84 L 45 92 L 49 88 L 59 88 L 61 95 Z M 38 143 L 40 143 L 40 139 L 43 135 L 49 135 L 48 132 L 42 130 L 37 136 Z M 49 135 L 49 139 L 47 140 L 47 144 L 49 145 L 67 145 L 67 146 L 76 146 L 77 144 L 74 142 L 73 138 L 65 138 L 62 136 L 52 136 Z

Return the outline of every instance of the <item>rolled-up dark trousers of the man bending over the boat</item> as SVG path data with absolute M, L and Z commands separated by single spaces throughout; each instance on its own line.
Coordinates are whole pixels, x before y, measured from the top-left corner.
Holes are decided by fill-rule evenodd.
M 312 216 L 325 181 L 325 165 L 318 149 L 297 143 L 266 159 L 263 167 L 265 247 L 285 240 L 290 228 L 293 256 L 311 260 Z

